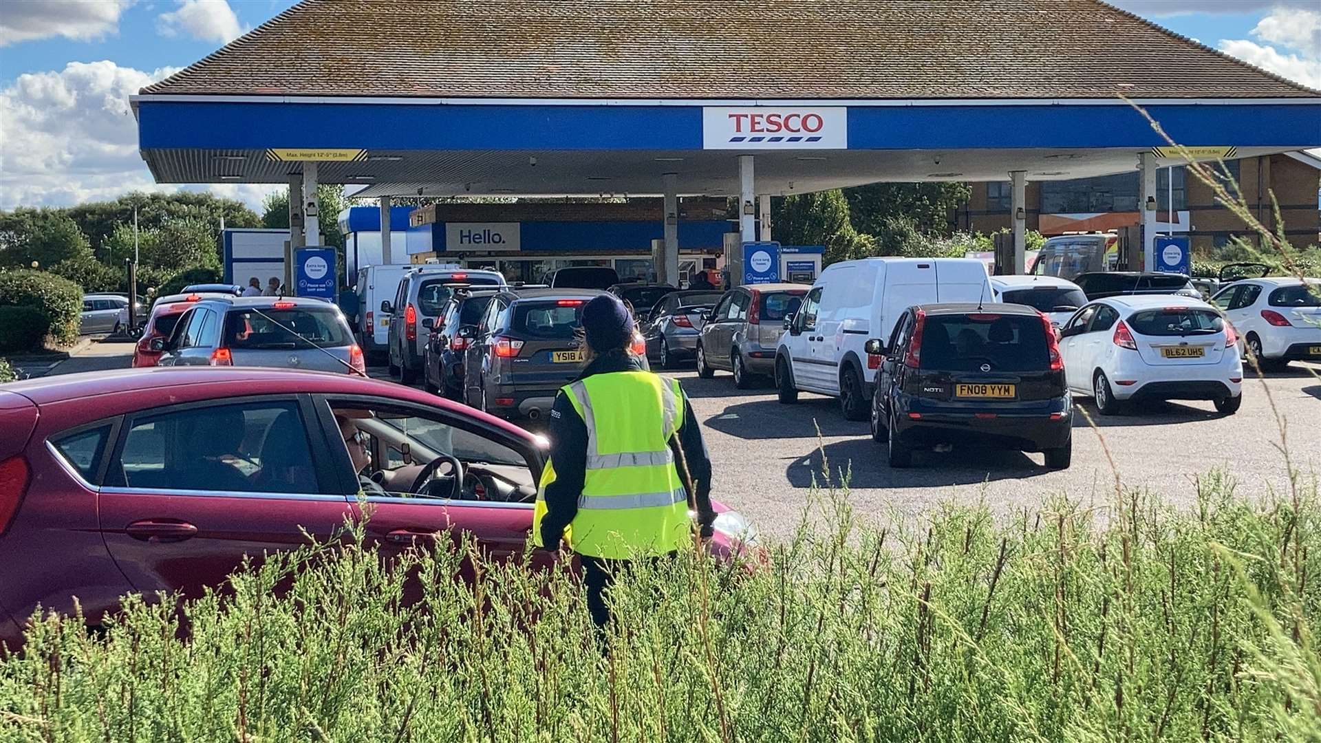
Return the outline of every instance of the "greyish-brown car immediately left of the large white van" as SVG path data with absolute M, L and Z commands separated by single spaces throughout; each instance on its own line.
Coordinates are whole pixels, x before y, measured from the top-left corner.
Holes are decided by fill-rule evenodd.
M 775 373 L 775 346 L 789 317 L 803 303 L 803 284 L 756 284 L 725 292 L 697 336 L 697 375 L 732 372 L 746 390 Z

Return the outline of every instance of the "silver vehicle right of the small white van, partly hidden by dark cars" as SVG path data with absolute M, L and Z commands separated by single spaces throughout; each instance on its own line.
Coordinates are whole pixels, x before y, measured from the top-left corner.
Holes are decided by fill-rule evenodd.
M 423 320 L 440 316 L 456 286 L 503 287 L 505 276 L 497 271 L 417 266 L 399 279 L 394 300 L 382 300 L 380 312 L 390 316 L 387 362 L 390 374 L 399 381 L 412 383 L 417 379 L 421 350 L 431 337 Z

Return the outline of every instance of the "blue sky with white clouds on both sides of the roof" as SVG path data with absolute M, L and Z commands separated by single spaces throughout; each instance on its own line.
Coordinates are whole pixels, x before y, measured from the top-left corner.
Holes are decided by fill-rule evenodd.
M 1112 0 L 1176 33 L 1321 89 L 1321 0 Z M 0 0 L 0 209 L 132 189 L 211 190 L 259 209 L 280 186 L 159 185 L 128 97 L 293 0 Z M 284 186 L 287 188 L 287 186 Z

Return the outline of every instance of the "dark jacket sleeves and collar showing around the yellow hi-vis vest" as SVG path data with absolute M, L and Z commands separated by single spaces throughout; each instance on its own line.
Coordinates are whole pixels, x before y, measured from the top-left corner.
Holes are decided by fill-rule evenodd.
M 617 350 L 597 357 L 583 370 L 579 379 L 593 374 L 614 372 L 641 372 L 638 360 L 625 350 Z M 564 528 L 577 516 L 577 501 L 583 494 L 583 480 L 587 475 L 587 424 L 573 409 L 568 395 L 560 391 L 551 407 L 550 423 L 551 464 L 555 467 L 555 481 L 546 487 L 546 516 L 542 517 L 542 545 L 556 549 L 564 535 Z M 688 473 L 692 475 L 697 522 L 703 531 L 716 514 L 711 510 L 711 455 L 701 440 L 701 428 L 692 414 L 688 395 L 683 395 L 683 423 L 679 426 L 679 446 L 688 460 Z

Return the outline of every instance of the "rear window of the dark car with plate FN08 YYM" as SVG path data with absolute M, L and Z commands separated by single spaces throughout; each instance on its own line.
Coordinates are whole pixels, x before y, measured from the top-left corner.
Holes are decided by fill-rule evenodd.
M 1041 372 L 1050 368 L 1046 331 L 1036 315 L 929 315 L 922 325 L 922 369 Z

